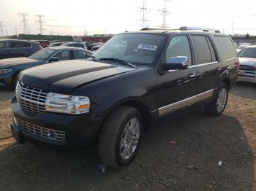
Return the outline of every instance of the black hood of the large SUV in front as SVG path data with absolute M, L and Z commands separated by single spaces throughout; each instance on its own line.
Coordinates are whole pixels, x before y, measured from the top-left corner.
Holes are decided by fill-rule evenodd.
M 27 69 L 20 73 L 19 80 L 40 89 L 71 93 L 76 87 L 134 70 L 108 63 L 72 60 Z

